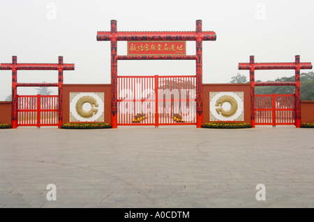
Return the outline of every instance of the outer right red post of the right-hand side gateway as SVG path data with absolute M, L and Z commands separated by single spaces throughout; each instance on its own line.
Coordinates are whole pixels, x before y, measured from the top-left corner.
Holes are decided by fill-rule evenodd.
M 295 127 L 301 127 L 300 56 L 295 56 Z

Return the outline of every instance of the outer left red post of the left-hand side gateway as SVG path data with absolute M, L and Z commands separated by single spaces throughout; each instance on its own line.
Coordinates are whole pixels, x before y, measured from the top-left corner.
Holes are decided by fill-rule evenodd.
M 12 111 L 11 125 L 17 128 L 17 56 L 12 56 Z

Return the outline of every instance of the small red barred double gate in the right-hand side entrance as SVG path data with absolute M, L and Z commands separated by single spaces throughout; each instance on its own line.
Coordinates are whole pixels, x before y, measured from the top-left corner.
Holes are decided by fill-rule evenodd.
M 295 125 L 295 95 L 255 95 L 255 125 Z

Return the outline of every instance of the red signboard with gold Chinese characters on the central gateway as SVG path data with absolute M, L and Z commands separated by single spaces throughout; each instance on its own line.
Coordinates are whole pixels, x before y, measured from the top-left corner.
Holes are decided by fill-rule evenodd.
M 186 42 L 128 41 L 128 55 L 186 55 Z

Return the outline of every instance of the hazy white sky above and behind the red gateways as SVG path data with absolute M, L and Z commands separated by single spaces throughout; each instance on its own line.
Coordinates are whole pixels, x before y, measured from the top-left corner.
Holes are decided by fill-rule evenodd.
M 118 31 L 195 31 L 202 19 L 203 31 L 215 31 L 215 42 L 203 42 L 203 82 L 228 83 L 238 63 L 314 63 L 314 1 L 77 1 L 1 0 L 0 63 L 75 63 L 64 72 L 65 84 L 110 84 L 110 42 L 97 42 L 97 31 L 110 31 L 117 19 Z M 195 42 L 187 42 L 187 54 L 195 54 Z M 118 42 L 118 54 L 126 54 L 126 42 Z M 301 70 L 309 72 L 310 70 Z M 292 76 L 293 70 L 257 71 L 255 79 Z M 195 74 L 195 61 L 118 61 L 118 75 Z M 57 82 L 57 71 L 18 71 L 17 81 Z M 0 100 L 11 93 L 11 72 L 0 71 Z M 57 91 L 56 91 L 57 92 Z M 20 89 L 19 94 L 36 94 Z

